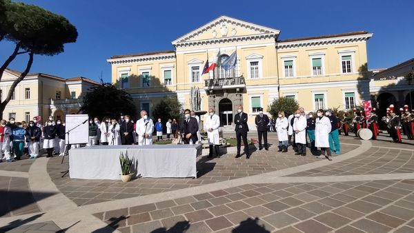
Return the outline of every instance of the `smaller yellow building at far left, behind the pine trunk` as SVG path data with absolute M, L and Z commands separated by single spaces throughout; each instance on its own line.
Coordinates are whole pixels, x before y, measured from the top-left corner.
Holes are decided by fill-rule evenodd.
M 0 99 L 6 99 L 13 81 L 20 72 L 6 69 L 0 81 Z M 82 94 L 99 83 L 83 77 L 63 79 L 50 74 L 28 74 L 14 89 L 12 99 L 3 111 L 3 119 L 14 117 L 16 121 L 30 121 L 41 116 L 44 122 L 49 116 L 64 119 L 66 114 L 76 114 L 81 107 Z

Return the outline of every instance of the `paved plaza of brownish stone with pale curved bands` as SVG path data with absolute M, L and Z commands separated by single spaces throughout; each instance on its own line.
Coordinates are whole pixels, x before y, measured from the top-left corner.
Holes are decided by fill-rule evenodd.
M 328 161 L 269 139 L 250 159 L 199 156 L 197 179 L 61 178 L 67 157 L 0 163 L 0 232 L 414 232 L 413 143 L 341 136 Z

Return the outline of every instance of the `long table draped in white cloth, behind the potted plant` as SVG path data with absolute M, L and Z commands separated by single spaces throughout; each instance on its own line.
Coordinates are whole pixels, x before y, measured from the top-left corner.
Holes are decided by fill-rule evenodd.
M 201 145 L 92 145 L 69 151 L 72 179 L 120 179 L 122 153 L 132 159 L 137 177 L 197 177 Z

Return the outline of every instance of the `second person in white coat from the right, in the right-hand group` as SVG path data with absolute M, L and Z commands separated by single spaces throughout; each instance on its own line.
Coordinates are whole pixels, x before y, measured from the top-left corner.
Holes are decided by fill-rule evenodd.
M 306 117 L 304 117 L 300 110 L 295 112 L 295 120 L 293 121 L 293 131 L 295 132 L 295 143 L 297 152 L 295 155 L 306 156 Z

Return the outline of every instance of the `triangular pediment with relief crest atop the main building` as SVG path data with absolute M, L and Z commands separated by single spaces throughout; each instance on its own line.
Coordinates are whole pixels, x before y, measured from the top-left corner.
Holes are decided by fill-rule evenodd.
M 176 47 L 199 43 L 214 43 L 220 41 L 235 41 L 237 39 L 254 39 L 255 37 L 277 37 L 279 30 L 248 23 L 239 19 L 221 16 L 206 23 L 182 37 L 172 44 Z

